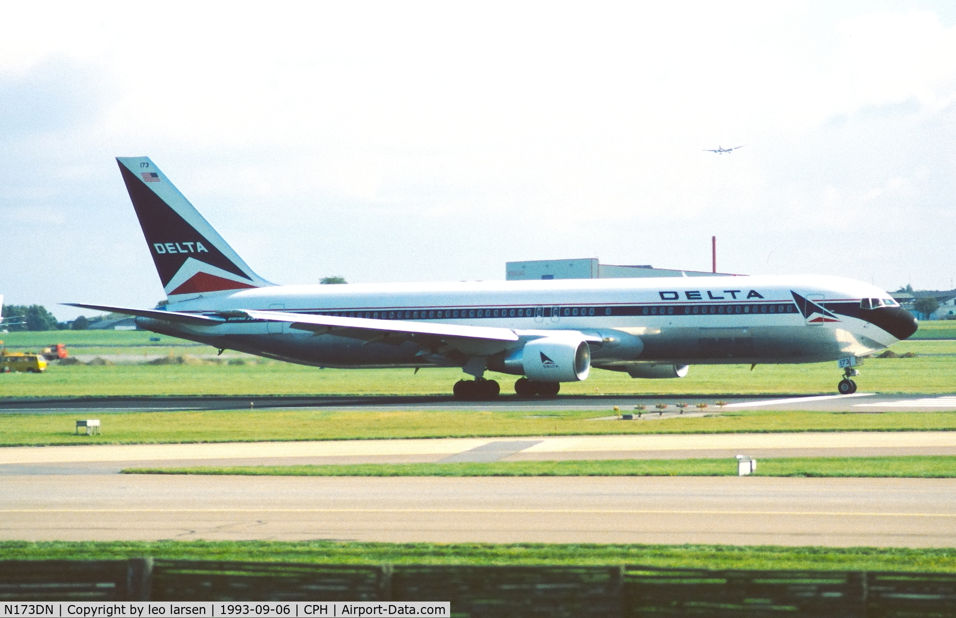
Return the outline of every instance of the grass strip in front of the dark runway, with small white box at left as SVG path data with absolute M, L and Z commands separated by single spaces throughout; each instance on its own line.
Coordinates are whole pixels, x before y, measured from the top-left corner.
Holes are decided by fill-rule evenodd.
M 100 435 L 75 435 L 77 414 L 4 414 L 0 446 L 159 444 L 615 433 L 956 430 L 956 412 L 734 411 L 706 417 L 594 421 L 597 411 L 98 412 Z

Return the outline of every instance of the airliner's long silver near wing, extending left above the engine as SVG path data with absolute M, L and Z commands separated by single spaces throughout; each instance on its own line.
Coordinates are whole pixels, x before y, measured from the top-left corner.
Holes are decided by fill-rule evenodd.
M 490 326 L 436 324 L 434 322 L 405 320 L 374 320 L 371 318 L 340 318 L 338 316 L 314 316 L 310 314 L 284 313 L 279 311 L 254 311 L 251 309 L 228 312 L 228 314 L 232 313 L 244 314 L 253 320 L 291 322 L 293 328 L 311 330 L 319 334 L 325 334 L 333 330 L 358 329 L 382 333 L 433 335 L 443 338 L 461 337 L 495 342 L 516 342 L 519 339 L 510 328 L 494 328 Z

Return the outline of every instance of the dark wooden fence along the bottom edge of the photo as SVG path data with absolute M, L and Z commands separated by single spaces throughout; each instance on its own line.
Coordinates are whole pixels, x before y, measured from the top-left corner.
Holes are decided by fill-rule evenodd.
M 956 574 L 0 561 L 0 601 L 450 601 L 455 616 L 956 618 Z

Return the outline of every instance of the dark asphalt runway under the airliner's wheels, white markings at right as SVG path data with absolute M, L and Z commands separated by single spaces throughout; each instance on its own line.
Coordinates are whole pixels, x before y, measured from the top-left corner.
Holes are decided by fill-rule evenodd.
M 374 411 L 463 409 L 479 411 L 601 410 L 615 406 L 631 411 L 636 406 L 654 410 L 659 403 L 676 413 L 675 404 L 689 408 L 698 403 L 718 410 L 716 402 L 728 403 L 726 409 L 776 409 L 810 411 L 927 411 L 956 410 L 954 394 L 885 395 L 858 392 L 852 395 L 558 395 L 550 399 L 502 395 L 492 402 L 467 402 L 450 395 L 417 396 L 269 396 L 269 397 L 70 397 L 4 398 L 0 414 L 148 412 L 204 409 L 321 409 Z

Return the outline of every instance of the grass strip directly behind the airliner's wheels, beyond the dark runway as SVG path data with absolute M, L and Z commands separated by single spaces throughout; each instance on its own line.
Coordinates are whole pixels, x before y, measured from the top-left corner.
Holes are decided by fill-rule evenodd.
M 912 359 L 867 359 L 857 378 L 860 391 L 882 393 L 950 393 L 956 391 L 956 350 L 950 342 L 912 342 L 923 354 Z M 931 351 L 928 351 L 931 350 Z M 917 351 L 919 354 L 920 351 Z M 514 376 L 489 372 L 502 393 L 513 393 Z M 268 363 L 195 365 L 60 366 L 43 374 L 0 374 L 3 397 L 77 397 L 110 395 L 433 395 L 450 394 L 466 377 L 456 368 L 320 369 L 299 364 Z M 595 369 L 579 383 L 561 385 L 562 394 L 700 395 L 811 394 L 836 392 L 836 363 L 694 365 L 678 380 L 634 380 L 626 373 Z

